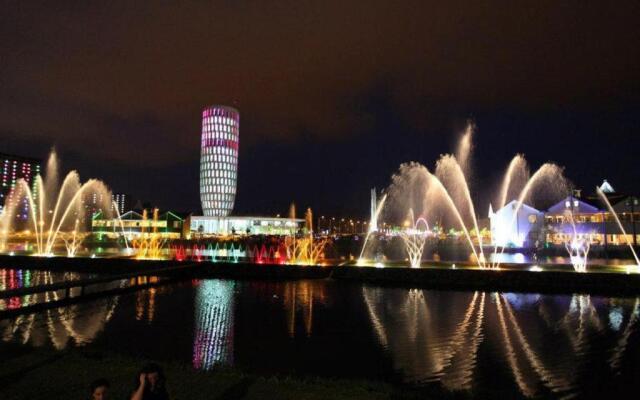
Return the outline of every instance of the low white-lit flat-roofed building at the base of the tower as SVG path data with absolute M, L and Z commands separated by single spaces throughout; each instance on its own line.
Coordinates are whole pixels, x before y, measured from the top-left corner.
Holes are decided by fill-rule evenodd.
M 194 236 L 226 235 L 295 235 L 305 220 L 280 217 L 189 217 L 189 233 Z

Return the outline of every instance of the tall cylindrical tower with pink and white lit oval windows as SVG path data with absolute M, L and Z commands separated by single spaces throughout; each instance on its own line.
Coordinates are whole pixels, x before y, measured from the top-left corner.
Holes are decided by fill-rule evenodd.
M 225 217 L 233 210 L 238 181 L 240 113 L 227 106 L 202 112 L 200 202 L 207 217 Z

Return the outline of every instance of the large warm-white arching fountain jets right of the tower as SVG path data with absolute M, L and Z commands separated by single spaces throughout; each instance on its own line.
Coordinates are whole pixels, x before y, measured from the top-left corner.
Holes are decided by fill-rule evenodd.
M 473 133 L 474 126 L 469 124 L 462 135 L 456 155 L 441 156 L 436 162 L 434 172 L 417 162 L 402 164 L 392 177 L 392 183 L 387 190 L 389 200 L 385 205 L 385 212 L 397 213 L 412 209 L 432 221 L 444 219 L 445 223 L 460 230 L 461 236 L 471 250 L 470 257 L 481 268 L 498 269 L 500 256 L 505 247 L 496 243 L 492 254 L 496 256 L 495 259 L 486 257 L 485 243 L 479 229 L 478 216 L 468 183 Z M 502 208 L 507 199 L 517 199 L 514 218 L 509 224 L 513 226 L 516 223 L 515 217 L 525 201 L 529 202 L 542 195 L 557 199 L 566 195 L 566 188 L 567 182 L 562 168 L 546 163 L 530 175 L 524 156 L 517 154 L 509 163 L 502 179 L 496 204 Z M 381 204 L 377 212 L 380 213 L 382 209 Z M 375 218 L 377 219 L 378 215 Z M 404 231 L 406 229 L 401 231 L 400 237 L 403 239 L 405 250 L 410 255 L 411 265 L 416 266 L 419 264 L 418 253 L 422 251 L 421 243 L 415 235 Z M 363 255 L 368 239 L 369 235 L 365 238 L 358 264 L 364 263 Z

